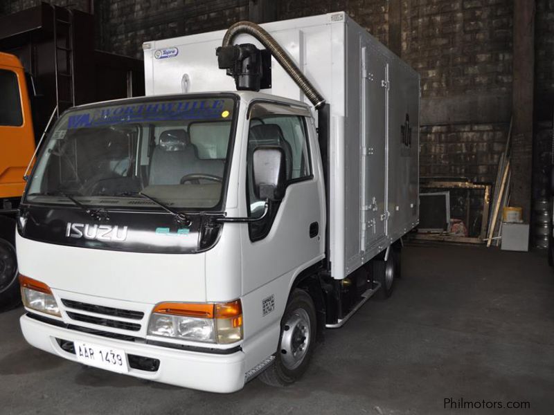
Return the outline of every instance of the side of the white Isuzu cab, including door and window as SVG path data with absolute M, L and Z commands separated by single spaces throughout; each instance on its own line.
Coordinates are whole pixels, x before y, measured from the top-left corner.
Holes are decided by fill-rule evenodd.
M 253 151 L 260 146 L 279 147 L 286 161 L 282 201 L 271 202 L 264 219 L 241 228 L 242 286 L 249 299 L 243 303 L 244 315 L 255 316 L 255 321 L 249 322 L 250 330 L 271 331 L 266 351 L 274 353 L 292 280 L 324 256 L 324 187 L 315 129 L 307 109 L 258 103 L 249 115 L 244 195 L 249 216 L 260 217 L 265 203 L 253 192 Z M 244 347 L 247 350 L 249 345 Z

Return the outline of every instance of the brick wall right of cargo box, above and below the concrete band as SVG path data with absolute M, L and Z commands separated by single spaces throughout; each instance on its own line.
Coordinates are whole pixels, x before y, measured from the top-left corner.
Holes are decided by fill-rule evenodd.
M 511 102 L 512 1 L 402 0 L 402 59 L 420 73 L 423 99 L 485 93 Z M 422 126 L 420 175 L 494 183 L 508 118 Z

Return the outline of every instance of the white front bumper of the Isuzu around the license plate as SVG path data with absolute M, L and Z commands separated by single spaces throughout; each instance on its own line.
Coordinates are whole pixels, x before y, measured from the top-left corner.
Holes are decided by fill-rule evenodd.
M 219 393 L 238 391 L 244 386 L 245 358 L 242 351 L 220 355 L 175 350 L 152 344 L 90 335 L 34 320 L 27 315 L 21 316 L 19 321 L 21 322 L 21 331 L 29 344 L 75 362 L 77 361 L 75 354 L 62 349 L 56 339 L 89 342 L 108 348 L 121 349 L 126 354 L 159 360 L 157 371 L 129 368 L 127 374 L 136 378 Z

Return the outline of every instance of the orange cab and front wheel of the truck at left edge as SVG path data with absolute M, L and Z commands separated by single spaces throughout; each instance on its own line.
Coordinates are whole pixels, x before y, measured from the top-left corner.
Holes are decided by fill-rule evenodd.
M 0 52 L 0 311 L 19 304 L 15 215 L 35 151 L 24 67 Z

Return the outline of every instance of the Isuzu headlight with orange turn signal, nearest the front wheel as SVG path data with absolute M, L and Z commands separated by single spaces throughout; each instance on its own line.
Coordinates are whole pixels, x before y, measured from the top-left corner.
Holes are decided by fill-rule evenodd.
M 154 307 L 148 334 L 229 344 L 242 340 L 240 299 L 230 303 L 162 303 Z

